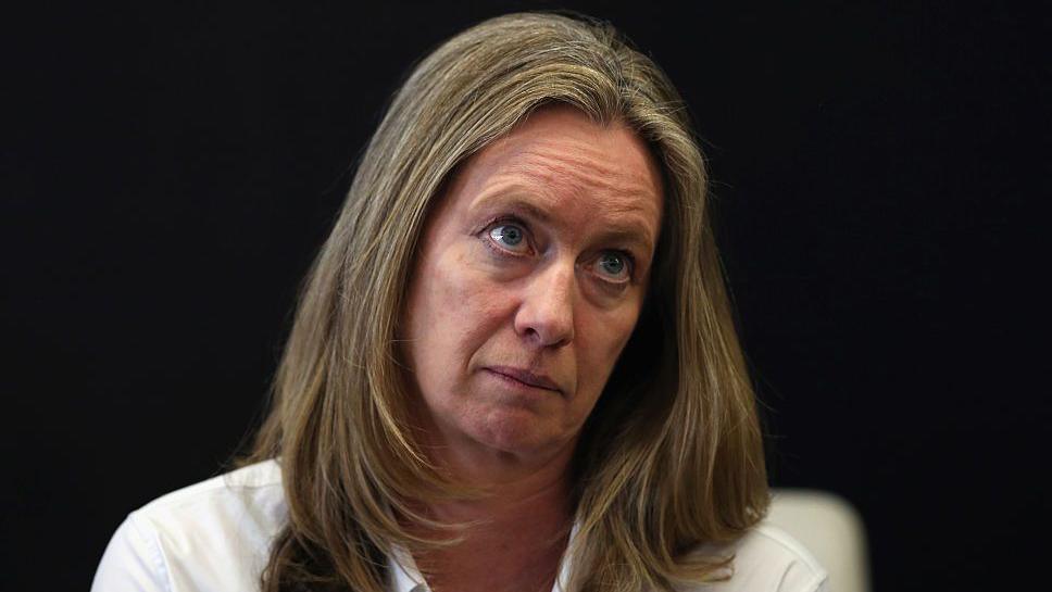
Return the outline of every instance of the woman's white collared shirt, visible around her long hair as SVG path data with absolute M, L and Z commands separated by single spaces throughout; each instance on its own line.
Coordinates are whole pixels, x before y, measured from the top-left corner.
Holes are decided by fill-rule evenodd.
M 273 461 L 170 493 L 133 512 L 117 528 L 91 591 L 256 591 L 271 542 L 287 515 L 281 471 Z M 684 592 L 826 592 L 825 569 L 773 526 L 761 524 L 718 551 L 735 553 L 730 580 Z M 388 563 L 388 590 L 428 591 L 408 553 Z M 572 569 L 564 560 L 553 592 L 564 590 Z

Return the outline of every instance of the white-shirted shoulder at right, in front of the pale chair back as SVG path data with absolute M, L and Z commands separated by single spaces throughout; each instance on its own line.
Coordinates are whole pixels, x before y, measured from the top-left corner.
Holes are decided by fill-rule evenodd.
M 761 522 L 736 542 L 699 550 L 705 554 L 734 555 L 730 578 L 689 588 L 685 592 L 824 592 L 825 568 L 800 542 L 780 528 Z

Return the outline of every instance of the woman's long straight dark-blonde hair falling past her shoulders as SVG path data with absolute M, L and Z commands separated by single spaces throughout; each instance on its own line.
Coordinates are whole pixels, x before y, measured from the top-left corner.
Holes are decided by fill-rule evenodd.
M 278 458 L 289 519 L 264 590 L 385 588 L 392 547 L 423 549 L 408 501 L 471 494 L 408 426 L 399 319 L 428 213 L 468 156 L 533 110 L 624 122 L 664 175 L 650 295 L 574 464 L 573 589 L 672 590 L 723 572 L 698 553 L 768 503 L 755 401 L 706 216 L 704 161 L 664 73 L 608 24 L 512 14 L 456 35 L 412 72 L 368 143 L 302 290 L 245 463 Z M 433 525 L 435 526 L 435 525 Z

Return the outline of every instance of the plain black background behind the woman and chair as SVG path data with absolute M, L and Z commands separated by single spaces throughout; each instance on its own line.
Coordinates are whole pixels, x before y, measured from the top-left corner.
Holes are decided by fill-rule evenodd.
M 613 21 L 690 104 L 773 482 L 860 509 L 878 591 L 1028 581 L 1049 547 L 1031 337 L 1047 20 L 966 2 L 41 2 L 0 25 L 0 587 L 85 589 L 127 512 L 221 470 L 390 93 L 441 40 L 526 8 Z

